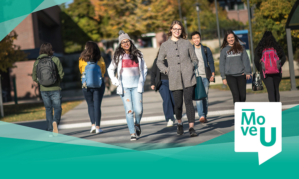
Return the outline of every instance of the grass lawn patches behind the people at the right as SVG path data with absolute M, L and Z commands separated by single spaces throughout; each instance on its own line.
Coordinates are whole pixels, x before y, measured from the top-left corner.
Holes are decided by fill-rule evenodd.
M 299 78 L 296 78 L 295 80 L 296 80 L 296 87 L 298 87 L 299 86 Z M 224 88 L 222 88 L 223 86 L 224 86 L 223 84 L 210 85 L 209 89 L 217 89 L 217 90 L 222 90 L 222 91 L 229 90 L 228 86 L 225 86 Z M 246 92 L 254 93 L 254 94 L 266 93 L 267 89 L 266 89 L 266 86 L 264 83 L 263 83 L 263 86 L 264 86 L 264 90 L 262 90 L 262 91 L 252 91 L 251 89 L 248 89 L 248 90 L 246 90 Z M 279 84 L 279 91 L 289 91 L 289 90 L 291 90 L 290 78 L 283 78 Z

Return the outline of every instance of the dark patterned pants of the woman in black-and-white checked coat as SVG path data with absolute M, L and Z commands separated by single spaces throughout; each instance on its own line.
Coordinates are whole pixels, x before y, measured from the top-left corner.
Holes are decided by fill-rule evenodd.
M 183 85 L 183 90 L 172 91 L 174 98 L 174 113 L 176 114 L 176 119 L 182 119 L 183 113 L 183 96 L 186 107 L 186 114 L 188 118 L 188 123 L 194 123 L 195 110 L 192 101 L 194 86 L 185 88 Z

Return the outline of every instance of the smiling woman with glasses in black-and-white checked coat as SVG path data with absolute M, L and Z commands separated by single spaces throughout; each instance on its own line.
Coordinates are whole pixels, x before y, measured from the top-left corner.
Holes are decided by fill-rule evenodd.
M 190 136 L 197 136 L 193 129 L 195 121 L 195 110 L 192 101 L 196 77 L 194 64 L 198 64 L 194 48 L 187 40 L 187 33 L 180 21 L 173 21 L 168 31 L 168 40 L 161 44 L 157 59 L 157 67 L 162 73 L 168 75 L 169 89 L 173 92 L 175 101 L 174 112 L 178 120 L 177 134 L 183 135 L 183 97 L 186 106 L 186 114 L 189 123 Z M 165 66 L 165 57 L 168 67 Z

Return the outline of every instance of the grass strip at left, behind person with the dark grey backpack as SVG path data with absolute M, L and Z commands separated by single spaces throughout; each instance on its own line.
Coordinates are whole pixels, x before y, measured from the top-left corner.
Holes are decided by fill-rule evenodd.
M 78 106 L 82 101 L 62 102 L 62 115 Z M 44 103 L 12 104 L 4 105 L 4 118 L 0 121 L 17 122 L 45 119 L 46 112 Z

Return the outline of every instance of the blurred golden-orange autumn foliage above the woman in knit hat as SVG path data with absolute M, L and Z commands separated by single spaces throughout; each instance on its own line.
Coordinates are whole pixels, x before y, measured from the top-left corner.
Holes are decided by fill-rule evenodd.
M 91 0 L 104 38 L 117 37 L 119 30 L 132 36 L 165 31 L 177 19 L 176 0 Z

